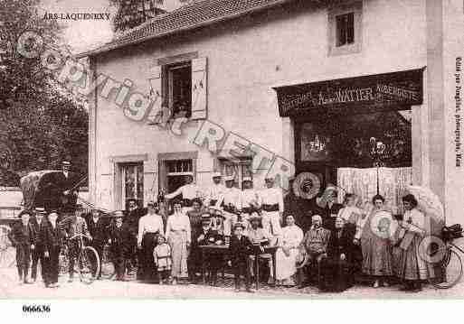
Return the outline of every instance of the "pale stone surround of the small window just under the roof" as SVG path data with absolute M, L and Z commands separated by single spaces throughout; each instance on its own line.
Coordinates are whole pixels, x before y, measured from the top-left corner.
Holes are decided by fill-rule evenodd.
M 354 14 L 355 42 L 336 46 L 336 17 L 342 14 Z M 345 5 L 337 5 L 328 9 L 328 56 L 354 54 L 362 51 L 363 44 L 363 1 L 357 0 Z

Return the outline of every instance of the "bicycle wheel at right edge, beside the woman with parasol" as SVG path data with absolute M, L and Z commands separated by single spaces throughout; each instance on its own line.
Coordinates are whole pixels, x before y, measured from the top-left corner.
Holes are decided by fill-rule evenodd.
M 429 282 L 438 289 L 449 289 L 462 278 L 462 261 L 456 251 L 448 249 L 440 266 L 435 267 L 435 278 L 430 278 Z

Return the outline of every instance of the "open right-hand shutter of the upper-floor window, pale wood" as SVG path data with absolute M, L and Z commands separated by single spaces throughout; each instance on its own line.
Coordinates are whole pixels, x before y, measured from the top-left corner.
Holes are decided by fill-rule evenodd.
M 206 118 L 206 58 L 192 60 L 192 119 Z

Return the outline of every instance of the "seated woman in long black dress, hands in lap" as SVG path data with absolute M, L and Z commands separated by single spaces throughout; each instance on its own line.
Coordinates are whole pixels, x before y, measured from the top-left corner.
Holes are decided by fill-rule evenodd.
M 322 260 L 322 282 L 319 289 L 328 292 L 344 292 L 353 286 L 352 264 L 354 256 L 353 239 L 355 227 L 345 225 L 343 218 L 337 217 L 335 228 L 327 245 L 327 258 Z

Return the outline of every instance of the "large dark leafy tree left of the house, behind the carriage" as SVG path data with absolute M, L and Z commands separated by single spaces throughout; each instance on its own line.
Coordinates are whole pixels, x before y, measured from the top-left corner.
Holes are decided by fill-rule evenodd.
M 87 173 L 88 114 L 40 58 L 24 58 L 16 40 L 24 31 L 40 34 L 49 47 L 60 47 L 61 31 L 38 14 L 38 0 L 0 3 L 0 185 L 18 186 L 29 171 L 56 169 L 72 159 Z

